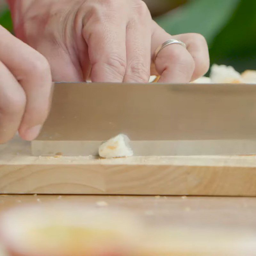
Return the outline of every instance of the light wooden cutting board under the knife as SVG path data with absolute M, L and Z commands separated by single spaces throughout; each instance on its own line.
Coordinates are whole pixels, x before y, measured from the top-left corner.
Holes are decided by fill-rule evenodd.
M 0 194 L 256 196 L 256 156 L 36 157 L 0 146 Z

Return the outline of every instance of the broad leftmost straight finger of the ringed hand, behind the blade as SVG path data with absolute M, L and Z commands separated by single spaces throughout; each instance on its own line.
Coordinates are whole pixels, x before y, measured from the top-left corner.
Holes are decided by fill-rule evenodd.
M 92 65 L 92 82 L 122 82 L 124 79 L 127 20 L 121 11 L 123 9 L 116 5 L 108 6 L 111 11 L 106 11 L 93 5 L 90 18 L 84 20 L 83 36 Z

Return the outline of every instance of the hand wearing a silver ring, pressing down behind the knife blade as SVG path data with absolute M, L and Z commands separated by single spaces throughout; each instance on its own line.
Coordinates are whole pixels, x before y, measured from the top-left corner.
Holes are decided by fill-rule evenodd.
M 171 36 L 141 0 L 9 0 L 16 35 L 49 61 L 54 81 L 187 83 L 209 68 L 199 34 Z M 187 44 L 156 48 L 168 39 Z

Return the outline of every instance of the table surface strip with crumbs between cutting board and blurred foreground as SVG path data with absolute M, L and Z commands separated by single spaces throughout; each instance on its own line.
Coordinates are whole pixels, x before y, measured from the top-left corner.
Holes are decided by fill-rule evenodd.
M 0 195 L 0 212 L 11 206 L 45 202 L 124 208 L 159 226 L 256 230 L 256 199 L 253 197 Z

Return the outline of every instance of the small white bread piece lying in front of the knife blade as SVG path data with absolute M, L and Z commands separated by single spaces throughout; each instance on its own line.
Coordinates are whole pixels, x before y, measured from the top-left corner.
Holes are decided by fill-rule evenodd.
M 119 134 L 100 145 L 99 156 L 102 158 L 133 156 L 129 141 L 129 138 L 126 135 Z

